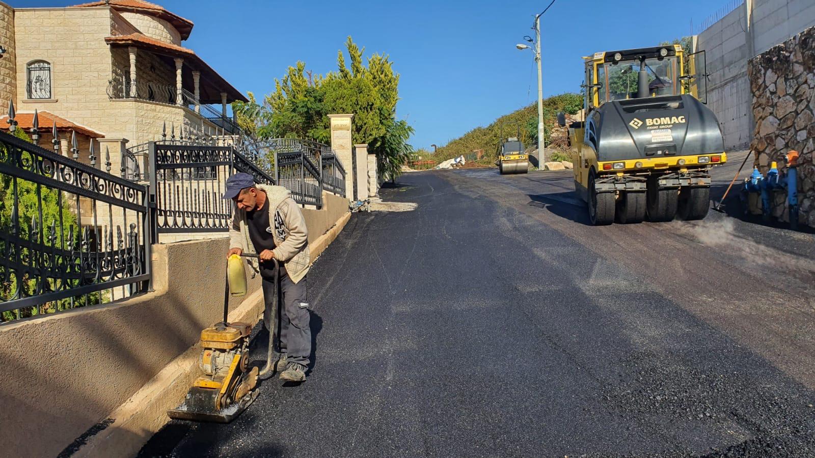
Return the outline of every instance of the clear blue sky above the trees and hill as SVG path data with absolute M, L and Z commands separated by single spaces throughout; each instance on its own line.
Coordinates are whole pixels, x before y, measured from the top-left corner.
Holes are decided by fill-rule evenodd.
M 5 1 L 13 7 L 81 2 Z M 316 73 L 336 69 L 348 35 L 366 53 L 390 55 L 401 74 L 398 114 L 416 129 L 416 148 L 441 146 L 535 101 L 533 54 L 515 44 L 533 35 L 533 16 L 550 2 L 152 1 L 195 23 L 184 46 L 241 92 L 267 94 L 297 60 Z M 691 20 L 699 24 L 725 3 L 557 0 L 541 24 L 544 96 L 579 90 L 580 56 L 688 35 Z

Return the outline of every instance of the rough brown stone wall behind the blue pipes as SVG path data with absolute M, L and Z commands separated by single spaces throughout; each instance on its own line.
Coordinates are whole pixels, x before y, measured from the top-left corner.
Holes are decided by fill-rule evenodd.
M 750 59 L 753 131 L 751 150 L 764 173 L 771 161 L 783 167 L 790 150 L 800 153 L 800 222 L 815 227 L 815 27 Z M 787 220 L 786 196 L 777 193 L 773 216 Z

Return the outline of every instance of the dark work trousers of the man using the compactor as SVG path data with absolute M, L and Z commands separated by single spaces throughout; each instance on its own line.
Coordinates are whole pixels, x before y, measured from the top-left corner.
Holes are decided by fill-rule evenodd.
M 262 279 L 263 301 L 266 310 L 263 310 L 263 324 L 271 328 L 272 301 L 275 300 L 275 280 Z M 299 363 L 308 366 L 311 357 L 311 328 L 309 321 L 308 297 L 306 297 L 306 277 L 295 284 L 289 275 L 280 279 L 280 290 L 283 292 L 283 301 L 277 308 L 277 323 L 274 330 L 275 348 L 289 357 L 289 363 Z

